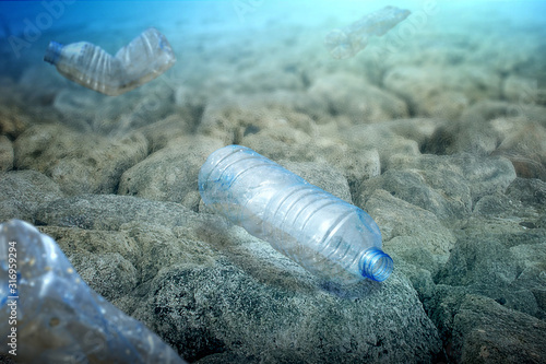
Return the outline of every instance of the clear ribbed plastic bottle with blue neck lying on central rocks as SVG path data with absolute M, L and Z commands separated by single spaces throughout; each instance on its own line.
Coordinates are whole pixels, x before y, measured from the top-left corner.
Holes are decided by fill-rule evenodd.
M 328 281 L 384 281 L 392 272 L 381 232 L 366 212 L 248 148 L 212 153 L 199 191 L 206 206 Z

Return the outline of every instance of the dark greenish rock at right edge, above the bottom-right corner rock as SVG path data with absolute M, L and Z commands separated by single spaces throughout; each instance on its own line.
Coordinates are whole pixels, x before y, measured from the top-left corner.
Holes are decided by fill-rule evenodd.
M 435 281 L 464 286 L 467 292 L 543 318 L 546 230 L 530 222 L 527 209 L 513 204 L 511 214 L 509 210 L 490 215 L 474 213 L 464 230 L 456 232 L 458 243 Z

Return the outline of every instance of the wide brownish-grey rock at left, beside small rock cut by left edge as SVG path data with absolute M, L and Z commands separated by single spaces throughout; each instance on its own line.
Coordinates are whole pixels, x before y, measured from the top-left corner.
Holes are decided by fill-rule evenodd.
M 67 195 L 112 193 L 121 174 L 147 155 L 140 133 L 109 139 L 62 126 L 28 128 L 14 144 L 15 167 L 54 179 Z

